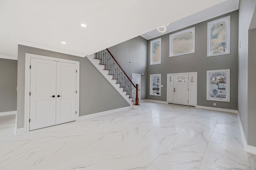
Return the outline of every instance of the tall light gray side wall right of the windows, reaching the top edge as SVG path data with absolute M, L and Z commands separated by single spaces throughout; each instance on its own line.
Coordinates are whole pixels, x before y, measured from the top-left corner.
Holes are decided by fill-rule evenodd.
M 248 141 L 248 29 L 256 5 L 255 0 L 239 2 L 239 45 L 238 48 L 238 112 Z M 255 47 L 254 47 L 255 49 Z M 255 67 L 255 66 L 254 66 Z M 255 76 L 251 77 L 254 78 Z M 255 120 L 254 120 L 255 121 Z M 255 131 L 255 129 L 254 129 Z

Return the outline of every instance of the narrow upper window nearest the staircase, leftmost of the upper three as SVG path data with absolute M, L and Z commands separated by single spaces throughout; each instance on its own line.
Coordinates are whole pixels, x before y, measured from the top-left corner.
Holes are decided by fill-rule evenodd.
M 161 64 L 161 38 L 150 41 L 150 65 Z

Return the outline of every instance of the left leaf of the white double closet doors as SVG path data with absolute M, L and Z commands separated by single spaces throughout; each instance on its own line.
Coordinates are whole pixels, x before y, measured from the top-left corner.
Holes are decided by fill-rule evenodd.
M 30 60 L 30 130 L 56 124 L 56 61 Z

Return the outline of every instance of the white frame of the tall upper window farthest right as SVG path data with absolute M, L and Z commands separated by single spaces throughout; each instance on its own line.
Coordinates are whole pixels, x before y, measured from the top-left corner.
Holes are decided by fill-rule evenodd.
M 227 51 L 223 53 L 213 53 L 211 54 L 211 39 L 212 39 L 212 31 L 211 31 L 211 25 L 216 25 L 220 22 L 226 21 L 226 48 Z M 216 55 L 225 55 L 230 54 L 230 16 L 220 18 L 218 20 L 214 20 L 207 23 L 207 57 L 212 57 Z

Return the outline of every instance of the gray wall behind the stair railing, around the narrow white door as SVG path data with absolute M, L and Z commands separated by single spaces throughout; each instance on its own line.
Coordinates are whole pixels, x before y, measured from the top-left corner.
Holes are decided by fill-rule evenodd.
M 147 45 L 148 41 L 139 36 L 109 48 L 131 80 L 132 73 L 144 73 L 141 75 L 141 100 L 146 99 Z M 132 61 L 132 64 L 128 64 L 128 61 Z

